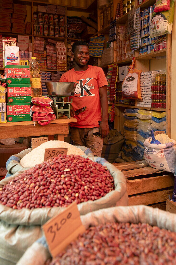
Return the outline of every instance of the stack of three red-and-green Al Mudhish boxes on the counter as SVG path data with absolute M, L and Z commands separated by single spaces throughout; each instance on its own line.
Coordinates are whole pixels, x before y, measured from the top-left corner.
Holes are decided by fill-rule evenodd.
M 6 65 L 7 121 L 30 121 L 30 70 L 29 65 Z

